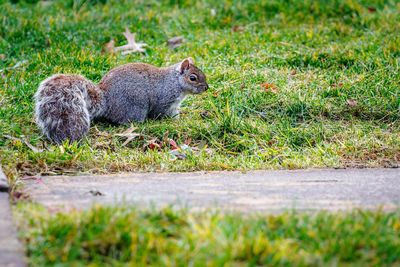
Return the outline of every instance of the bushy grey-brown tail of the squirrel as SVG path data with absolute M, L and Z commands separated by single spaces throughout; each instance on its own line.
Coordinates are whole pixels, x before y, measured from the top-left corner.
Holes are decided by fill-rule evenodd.
M 102 112 L 98 87 L 79 75 L 57 74 L 44 80 L 35 98 L 36 122 L 55 143 L 81 139 L 90 120 Z

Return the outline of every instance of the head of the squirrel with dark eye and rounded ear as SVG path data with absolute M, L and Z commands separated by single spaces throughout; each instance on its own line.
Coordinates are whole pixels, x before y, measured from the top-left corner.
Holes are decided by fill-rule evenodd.
M 208 89 L 206 76 L 194 65 L 192 58 L 186 58 L 177 64 L 179 83 L 183 90 L 191 94 L 200 94 Z

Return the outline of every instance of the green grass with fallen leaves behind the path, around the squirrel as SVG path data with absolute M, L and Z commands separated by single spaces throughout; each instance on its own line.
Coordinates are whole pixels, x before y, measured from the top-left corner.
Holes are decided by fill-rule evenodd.
M 397 1 L 0 2 L 0 69 L 27 61 L 0 73 L 0 162 L 10 177 L 400 162 Z M 126 26 L 150 45 L 147 52 L 102 53 L 111 38 L 124 43 Z M 166 41 L 178 35 L 186 42 L 171 50 Z M 34 123 L 32 98 L 49 75 L 80 73 L 98 82 L 120 64 L 165 66 L 187 56 L 211 89 L 190 97 L 177 120 L 95 123 L 82 142 L 62 147 Z M 146 137 L 122 146 L 115 134 L 131 126 Z M 168 146 L 143 149 L 168 138 L 179 145 L 191 139 L 198 149 L 184 160 Z

